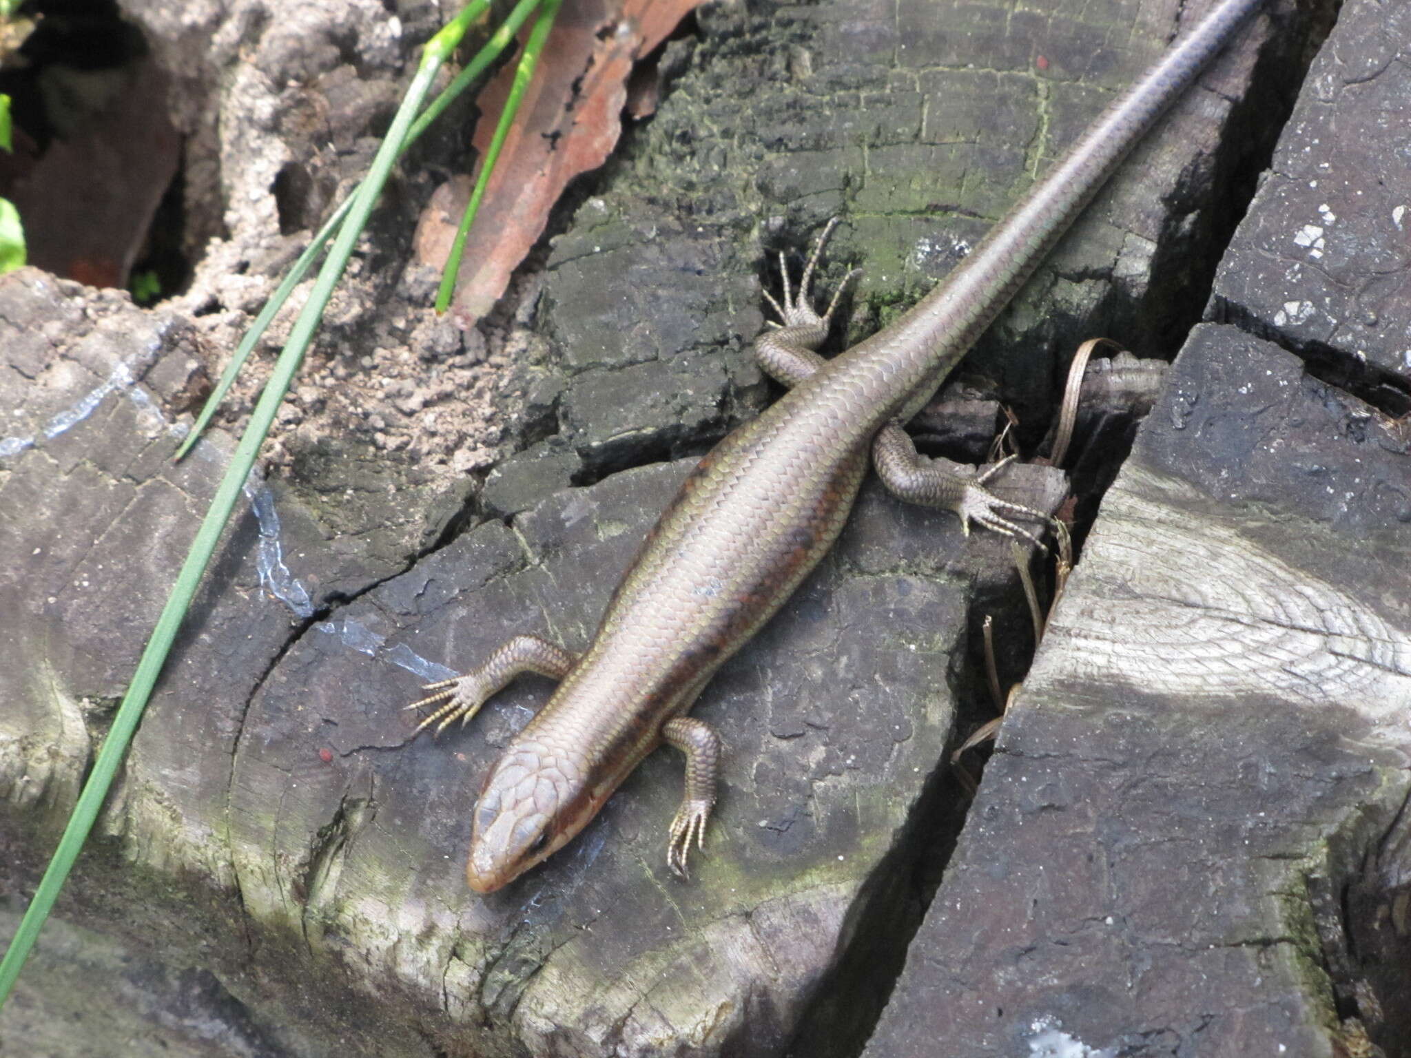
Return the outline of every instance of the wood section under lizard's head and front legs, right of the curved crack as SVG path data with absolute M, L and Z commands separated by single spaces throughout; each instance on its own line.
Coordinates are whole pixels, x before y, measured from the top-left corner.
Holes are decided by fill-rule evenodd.
M 626 471 L 487 523 L 337 622 L 459 667 L 515 632 L 580 650 L 691 466 Z M 776 1052 L 950 735 L 962 600 L 991 577 L 958 540 L 869 488 L 821 574 L 721 670 L 694 715 L 728 746 L 724 797 L 689 884 L 665 865 L 680 766 L 662 752 L 563 853 L 476 897 L 470 807 L 543 681 L 515 683 L 466 731 L 408 743 L 416 718 L 396 708 L 413 676 L 333 636 L 302 639 L 257 694 L 236 759 L 246 910 L 302 930 L 315 959 L 353 945 L 371 973 L 422 993 L 437 1034 L 485 1052 L 511 1038 L 535 1054 L 652 1040 Z M 301 767 L 323 748 L 330 766 Z

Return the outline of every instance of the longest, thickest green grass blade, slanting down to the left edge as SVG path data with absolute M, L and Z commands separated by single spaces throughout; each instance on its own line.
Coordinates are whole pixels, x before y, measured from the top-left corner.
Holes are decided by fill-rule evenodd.
M 464 16 L 464 11 L 461 16 Z M 461 27 L 467 24 L 460 16 L 457 16 L 456 21 L 460 21 Z M 453 21 L 453 25 L 456 21 Z M 295 320 L 289 340 L 279 353 L 274 374 L 265 384 L 264 392 L 260 395 L 260 401 L 250 416 L 250 423 L 240 443 L 236 446 L 230 467 L 216 488 L 210 509 L 196 530 L 196 539 L 192 542 L 186 561 L 176 577 L 176 585 L 172 588 L 172 594 L 157 621 L 157 628 L 152 631 L 152 636 L 143 650 L 141 660 L 137 663 L 137 671 L 127 688 L 127 694 L 123 697 L 123 704 L 119 705 L 117 714 L 113 718 L 113 726 L 103 739 L 103 746 L 93 763 L 93 770 L 83 784 L 83 790 L 73 807 L 73 814 L 69 817 L 63 837 L 59 839 L 59 846 L 44 872 L 34 899 L 20 920 L 20 928 L 10 941 L 4 958 L 0 959 L 0 1006 L 4 1004 L 14 987 L 14 982 L 20 976 L 20 969 L 40 934 L 40 928 L 54 907 L 59 889 L 63 886 L 63 880 L 73 868 L 73 861 L 78 858 L 79 849 L 82 849 L 89 831 L 93 828 L 93 822 L 97 820 L 97 814 L 103 807 L 103 798 L 107 796 L 113 776 L 123 762 L 127 745 L 137 729 L 137 722 L 141 719 L 143 710 L 151 695 L 152 686 L 157 683 L 162 664 L 166 662 L 166 655 L 176 638 L 176 632 L 196 595 L 196 588 L 200 584 L 206 566 L 216 552 L 220 535 L 230 521 L 230 515 L 240 498 L 241 487 L 254 466 L 260 444 L 270 432 L 275 412 L 278 412 L 279 403 L 284 401 L 284 395 L 293 379 L 293 374 L 303 360 L 303 353 L 313 339 L 323 309 L 333 295 L 333 288 L 343 275 L 343 269 L 349 257 L 351 257 L 358 236 L 367 224 L 367 217 L 373 212 L 377 196 L 387 182 L 392 165 L 396 162 L 396 155 L 411 130 L 415 114 L 430 93 L 432 80 L 440 69 L 446 54 L 449 54 L 444 47 L 444 32 L 446 30 L 432 38 L 432 42 L 440 47 L 433 48 L 432 44 L 428 44 L 416 76 L 412 79 L 412 85 L 401 109 L 396 111 L 396 117 L 392 120 L 392 127 L 388 130 L 387 138 L 382 141 L 381 148 L 378 148 L 371 171 L 351 199 L 349 216 L 339 230 L 333 248 L 323 262 L 323 268 L 319 271 L 319 278 L 313 286 L 313 292 L 309 295 L 309 302 L 303 306 L 298 320 Z

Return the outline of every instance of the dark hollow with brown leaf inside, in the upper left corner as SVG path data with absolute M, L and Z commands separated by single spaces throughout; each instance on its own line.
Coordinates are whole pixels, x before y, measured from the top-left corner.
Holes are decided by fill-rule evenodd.
M 31 0 L 3 21 L 6 48 L 23 42 L 0 55 L 14 117 L 0 197 L 20 213 L 28 262 L 140 305 L 182 289 L 182 141 L 143 32 L 113 0 Z

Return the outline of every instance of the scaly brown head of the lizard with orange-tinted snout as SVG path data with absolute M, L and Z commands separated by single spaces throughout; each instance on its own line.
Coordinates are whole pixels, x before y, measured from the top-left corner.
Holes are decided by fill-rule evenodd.
M 466 882 L 492 893 L 563 848 L 597 811 L 574 769 L 522 743 L 485 774 L 476 801 Z

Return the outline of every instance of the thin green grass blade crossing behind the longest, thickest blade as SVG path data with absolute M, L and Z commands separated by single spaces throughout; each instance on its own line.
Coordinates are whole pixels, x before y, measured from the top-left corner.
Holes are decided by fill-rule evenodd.
M 533 13 L 533 8 L 539 6 L 540 0 L 519 0 L 519 4 L 509 13 L 504 24 L 491 34 L 490 39 L 476 52 L 474 58 L 466 63 L 466 68 L 456 75 L 454 80 L 446 86 L 446 89 L 436 96 L 436 99 L 420 113 L 415 123 L 412 123 L 411 130 L 406 134 L 406 140 L 402 142 L 401 152 L 405 152 L 408 147 L 416 142 L 418 137 L 426 131 L 432 121 L 435 121 L 440 113 L 452 104 L 452 102 L 464 92 L 470 83 L 478 78 L 485 68 L 495 61 L 495 58 L 502 52 L 511 41 L 514 41 L 515 34 L 519 32 L 519 27 L 523 25 L 525 20 Z M 447 30 L 452 31 L 452 37 L 446 41 L 439 41 L 440 34 L 432 38 L 428 48 L 433 44 L 439 48 L 442 54 L 449 54 L 459 44 L 460 37 L 466 32 L 471 23 L 480 18 L 490 8 L 491 0 L 476 0 L 474 3 L 466 4 L 464 8 L 456 16 L 456 20 L 450 23 L 440 32 L 444 34 Z M 459 30 L 459 31 L 457 31 Z M 450 41 L 447 47 L 447 41 Z M 401 154 L 399 152 L 399 154 Z M 356 195 L 357 192 L 354 192 Z M 226 370 L 220 374 L 220 381 L 216 382 L 216 388 L 210 391 L 210 396 L 206 398 L 206 403 L 200 409 L 200 415 L 196 416 L 196 423 L 190 427 L 190 433 L 176 449 L 176 454 L 172 457 L 181 460 L 190 451 L 192 446 L 200 439 L 202 432 L 210 423 L 212 418 L 216 415 L 216 409 L 220 408 L 220 402 L 226 399 L 226 394 L 234 384 L 236 377 L 240 374 L 240 368 L 246 365 L 246 360 L 250 358 L 251 350 L 264 336 L 270 326 L 270 322 L 278 315 L 284 303 L 289 300 L 289 295 L 293 293 L 293 288 L 302 282 L 303 276 L 308 274 L 309 268 L 317 260 L 319 254 L 323 253 L 325 244 L 333 237 L 333 231 L 347 216 L 349 209 L 353 205 L 353 196 L 350 195 L 343 203 L 333 212 L 319 229 L 319 233 L 309 240 L 309 245 L 305 247 L 303 253 L 299 254 L 299 260 L 293 262 L 289 274 L 279 284 L 278 289 L 270 296 L 260 315 L 255 316 L 250 329 L 246 332 L 244 337 L 240 339 L 240 344 L 236 346 L 234 354 L 230 357 L 230 363 L 226 364 Z

